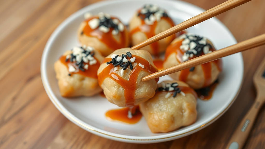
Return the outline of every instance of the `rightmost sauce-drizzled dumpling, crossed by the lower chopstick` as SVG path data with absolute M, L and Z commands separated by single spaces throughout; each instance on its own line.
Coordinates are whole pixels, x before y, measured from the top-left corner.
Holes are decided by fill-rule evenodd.
M 215 50 L 213 44 L 205 37 L 183 34 L 167 47 L 163 67 L 168 68 Z M 222 60 L 218 59 L 172 73 L 169 76 L 187 83 L 193 89 L 200 89 L 217 80 L 221 71 Z

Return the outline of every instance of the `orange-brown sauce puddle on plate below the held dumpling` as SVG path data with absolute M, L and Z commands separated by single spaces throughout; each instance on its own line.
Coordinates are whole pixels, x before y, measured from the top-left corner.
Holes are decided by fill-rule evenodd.
M 120 108 L 120 109 L 112 109 L 109 110 L 105 113 L 105 116 L 111 120 L 117 120 L 117 121 L 122 121 L 128 124 L 136 124 L 139 122 L 142 118 L 142 113 L 139 110 L 139 106 L 134 106 L 132 110 L 132 118 L 128 118 L 128 112 L 130 108 L 125 107 L 125 108 Z

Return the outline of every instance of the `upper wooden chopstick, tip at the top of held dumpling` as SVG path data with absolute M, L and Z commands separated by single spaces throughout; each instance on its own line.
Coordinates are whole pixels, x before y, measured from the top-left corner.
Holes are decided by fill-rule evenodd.
M 205 12 L 202 12 L 201 14 L 195 16 L 195 17 L 192 17 L 191 19 L 188 19 L 168 30 L 165 30 L 164 32 L 162 33 L 159 33 L 157 34 L 156 36 L 153 36 L 135 46 L 133 46 L 131 49 L 140 49 L 142 47 L 145 47 L 147 45 L 150 45 L 151 43 L 153 42 L 156 42 L 156 41 L 159 41 L 161 39 L 164 39 L 170 35 L 173 35 L 175 33 L 178 33 L 184 29 L 187 29 L 189 27 L 192 27 L 193 25 L 196 25 L 198 23 L 201 23 L 207 19 L 210 19 L 214 16 L 217 16 L 223 12 L 226 12 L 232 8 L 235 8 L 237 6 L 240 6 L 246 2 L 249 2 L 251 0 L 228 0 L 218 6 L 215 6 Z

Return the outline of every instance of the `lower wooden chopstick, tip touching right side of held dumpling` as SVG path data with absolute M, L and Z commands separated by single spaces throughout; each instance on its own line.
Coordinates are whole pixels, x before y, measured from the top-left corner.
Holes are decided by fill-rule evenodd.
M 204 64 L 204 63 L 208 63 L 211 62 L 213 60 L 217 60 L 219 58 L 222 58 L 224 56 L 228 56 L 231 54 L 235 54 L 237 52 L 241 52 L 241 51 L 245 51 L 260 45 L 264 45 L 265 44 L 265 34 L 250 38 L 248 40 L 239 42 L 235 45 L 229 46 L 229 47 L 225 47 L 223 49 L 217 50 L 217 51 L 213 51 L 211 53 L 199 56 L 197 58 L 188 60 L 186 62 L 180 63 L 178 65 L 163 69 L 161 71 L 152 73 L 148 76 L 145 76 L 142 78 L 143 81 L 148 81 L 154 78 L 158 78 L 158 77 L 162 77 L 174 72 L 178 72 L 190 67 L 194 67 L 196 65 L 200 65 L 200 64 Z

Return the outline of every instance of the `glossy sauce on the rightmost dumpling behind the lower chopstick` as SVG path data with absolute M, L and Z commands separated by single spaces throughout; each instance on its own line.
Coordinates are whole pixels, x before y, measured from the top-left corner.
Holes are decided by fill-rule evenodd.
M 182 56 L 183 56 L 185 51 L 181 50 L 179 47 L 182 45 L 182 41 L 183 40 L 184 39 L 179 40 L 176 43 L 170 44 L 167 47 L 166 53 L 165 53 L 165 61 L 167 60 L 169 55 L 171 55 L 172 53 L 176 53 L 177 61 L 179 63 L 182 63 Z M 210 48 L 210 51 L 216 51 L 216 49 Z M 201 55 L 204 55 L 204 53 L 202 52 Z M 198 55 L 198 56 L 201 56 L 201 55 Z M 193 58 L 196 58 L 198 56 L 193 56 Z M 189 59 L 193 59 L 193 58 L 189 58 Z M 211 63 L 214 63 L 217 66 L 217 69 L 218 69 L 219 72 L 222 71 L 222 59 L 217 59 L 217 60 L 214 60 L 214 61 L 209 62 L 209 63 L 201 64 L 202 71 L 204 73 L 204 79 L 205 79 L 203 87 L 209 86 L 210 83 L 211 83 L 211 68 L 212 68 L 211 67 Z M 180 81 L 187 82 L 187 78 L 188 78 L 188 75 L 190 73 L 189 69 L 190 68 L 184 69 L 184 70 L 182 70 L 180 72 L 180 75 L 179 75 L 179 80 Z

